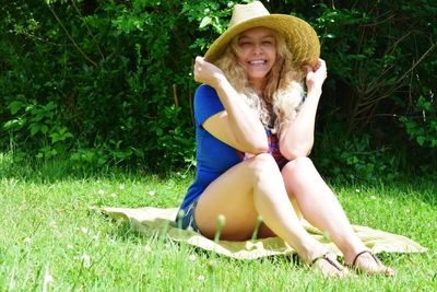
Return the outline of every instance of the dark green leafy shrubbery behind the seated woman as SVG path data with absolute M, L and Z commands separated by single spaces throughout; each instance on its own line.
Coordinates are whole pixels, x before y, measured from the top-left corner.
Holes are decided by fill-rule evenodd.
M 236 2 L 2 1 L 0 152 L 75 168 L 194 165 L 192 61 Z M 329 80 L 312 159 L 324 175 L 436 172 L 434 0 L 262 2 L 320 37 Z

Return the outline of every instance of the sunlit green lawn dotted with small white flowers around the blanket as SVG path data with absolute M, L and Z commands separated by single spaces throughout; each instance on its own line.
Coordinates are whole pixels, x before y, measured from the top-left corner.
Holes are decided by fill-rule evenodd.
M 433 180 L 334 185 L 350 219 L 429 252 L 385 254 L 394 279 L 323 279 L 290 257 L 241 261 L 147 237 L 91 206 L 177 207 L 191 174 L 76 174 L 62 163 L 14 166 L 0 156 L 0 291 L 433 291 L 437 194 Z M 114 194 L 114 195 L 113 195 Z

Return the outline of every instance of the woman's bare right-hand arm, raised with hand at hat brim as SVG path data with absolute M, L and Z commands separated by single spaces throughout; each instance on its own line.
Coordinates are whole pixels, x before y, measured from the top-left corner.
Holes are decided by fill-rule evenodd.
M 300 105 L 296 118 L 281 125 L 280 150 L 287 160 L 307 156 L 314 144 L 316 112 L 321 87 L 327 78 L 327 66 L 319 59 L 316 67 L 304 68 L 307 71 L 307 97 Z

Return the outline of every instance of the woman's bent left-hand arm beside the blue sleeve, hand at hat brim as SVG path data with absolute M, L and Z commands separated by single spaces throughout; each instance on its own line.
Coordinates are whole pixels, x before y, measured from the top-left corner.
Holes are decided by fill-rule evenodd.
M 225 108 L 203 122 L 206 131 L 247 153 L 259 154 L 269 149 L 265 129 L 259 117 L 238 96 L 222 70 L 197 57 L 194 80 L 214 87 Z

